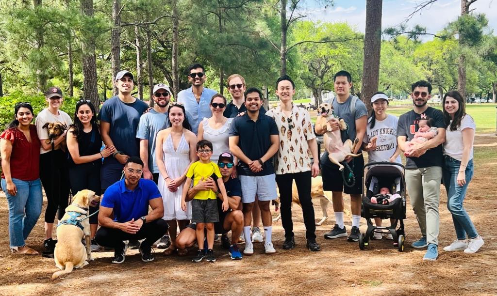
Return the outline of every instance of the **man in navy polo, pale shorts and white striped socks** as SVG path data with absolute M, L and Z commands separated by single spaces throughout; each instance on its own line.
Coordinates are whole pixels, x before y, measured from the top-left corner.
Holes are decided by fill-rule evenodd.
M 262 93 L 252 87 L 245 92 L 247 113 L 233 119 L 230 128 L 230 150 L 239 159 L 238 176 L 242 182 L 244 212 L 244 254 L 253 254 L 250 241 L 251 212 L 255 195 L 264 226 L 266 254 L 276 250 L 271 242 L 271 212 L 269 201 L 276 199 L 276 181 L 271 158 L 278 151 L 278 127 L 273 118 L 260 114 Z

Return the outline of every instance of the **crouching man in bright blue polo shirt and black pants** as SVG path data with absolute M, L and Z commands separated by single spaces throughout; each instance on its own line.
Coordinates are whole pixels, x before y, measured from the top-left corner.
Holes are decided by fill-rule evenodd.
M 152 244 L 167 231 L 162 196 L 157 185 L 140 178 L 143 162 L 130 157 L 124 165 L 124 179 L 110 185 L 100 201 L 95 240 L 114 248 L 112 263 L 123 263 L 128 247 L 123 240 L 144 239 L 140 245 L 143 262 L 154 260 Z M 149 206 L 152 211 L 149 212 Z

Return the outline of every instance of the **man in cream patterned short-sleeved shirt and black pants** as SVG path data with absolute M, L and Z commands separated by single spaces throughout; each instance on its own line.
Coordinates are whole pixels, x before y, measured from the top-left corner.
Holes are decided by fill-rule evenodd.
M 280 192 L 281 224 L 285 230 L 283 249 L 295 247 L 292 222 L 292 184 L 295 180 L 306 226 L 307 248 L 310 251 L 319 251 L 311 199 L 311 176 L 315 178 L 319 174 L 318 143 L 309 112 L 292 103 L 294 94 L 293 80 L 287 75 L 278 78 L 276 96 L 279 98 L 279 105 L 266 112 L 267 116 L 276 121 L 281 139 L 278 146 L 276 183 Z M 309 157 L 309 149 L 313 163 Z

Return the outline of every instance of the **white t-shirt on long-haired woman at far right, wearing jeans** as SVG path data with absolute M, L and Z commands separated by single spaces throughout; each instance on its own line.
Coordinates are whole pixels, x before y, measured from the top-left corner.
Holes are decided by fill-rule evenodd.
M 452 122 L 452 120 L 450 120 Z M 452 158 L 461 161 L 463 157 L 463 134 L 462 130 L 465 128 L 471 128 L 476 130 L 475 120 L 468 114 L 461 118 L 461 124 L 457 130 L 450 130 L 450 123 L 445 130 L 445 143 L 443 143 L 443 154 L 448 155 Z M 469 153 L 469 160 L 473 159 L 473 145 L 471 145 L 471 151 Z

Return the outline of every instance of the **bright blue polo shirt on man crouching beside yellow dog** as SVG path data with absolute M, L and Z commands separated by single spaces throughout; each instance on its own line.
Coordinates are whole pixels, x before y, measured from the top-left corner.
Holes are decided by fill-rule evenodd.
M 140 179 L 135 190 L 129 190 L 125 179 L 110 185 L 100 205 L 114 209 L 114 221 L 124 223 L 140 219 L 149 213 L 149 200 L 161 198 L 161 192 L 153 180 Z

